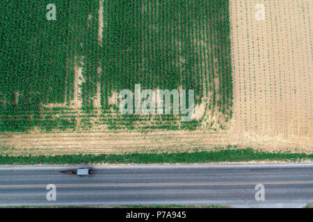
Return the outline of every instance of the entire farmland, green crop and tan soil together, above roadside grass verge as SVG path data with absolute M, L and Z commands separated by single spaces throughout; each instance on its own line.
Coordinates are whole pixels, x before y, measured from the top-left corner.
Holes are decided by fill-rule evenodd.
M 310 0 L 2 0 L 0 155 L 311 154 L 312 12 Z M 134 112 L 120 112 L 122 92 Z

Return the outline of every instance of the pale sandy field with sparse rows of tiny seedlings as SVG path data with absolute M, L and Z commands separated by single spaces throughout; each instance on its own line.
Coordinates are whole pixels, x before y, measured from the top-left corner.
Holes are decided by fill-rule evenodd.
M 234 131 L 313 144 L 313 1 L 231 0 L 230 15 Z

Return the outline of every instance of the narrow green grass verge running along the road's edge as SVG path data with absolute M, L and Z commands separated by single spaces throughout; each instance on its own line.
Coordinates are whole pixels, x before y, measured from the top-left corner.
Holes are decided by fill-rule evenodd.
M 313 160 L 312 154 L 268 153 L 252 148 L 216 148 L 214 151 L 194 151 L 193 153 L 125 153 L 123 155 L 56 155 L 56 156 L 0 156 L 0 164 L 161 164 L 161 163 L 211 163 L 247 161 L 287 161 Z

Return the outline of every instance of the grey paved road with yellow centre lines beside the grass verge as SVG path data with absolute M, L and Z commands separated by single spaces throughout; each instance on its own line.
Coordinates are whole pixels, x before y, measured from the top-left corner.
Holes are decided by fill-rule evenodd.
M 95 167 L 92 177 L 64 169 L 75 167 L 0 167 L 0 205 L 313 205 L 313 164 Z M 48 184 L 56 201 L 46 199 Z M 264 201 L 255 200 L 257 184 Z

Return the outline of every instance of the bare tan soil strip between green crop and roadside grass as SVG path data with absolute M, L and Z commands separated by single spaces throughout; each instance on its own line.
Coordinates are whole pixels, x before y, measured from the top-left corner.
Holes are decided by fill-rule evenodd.
M 312 153 L 312 140 L 302 144 L 280 139 L 255 139 L 248 135 L 203 130 L 155 130 L 150 133 L 131 131 L 76 133 L 10 133 L 0 136 L 1 155 L 63 155 L 79 153 L 161 153 L 203 151 L 238 145 L 266 151 Z

